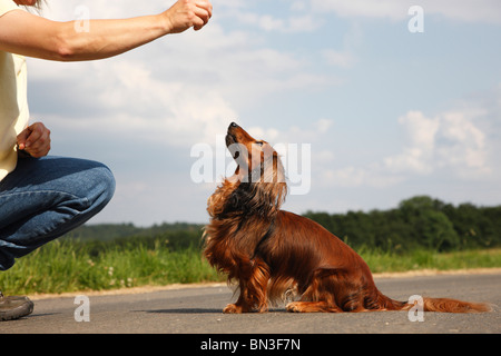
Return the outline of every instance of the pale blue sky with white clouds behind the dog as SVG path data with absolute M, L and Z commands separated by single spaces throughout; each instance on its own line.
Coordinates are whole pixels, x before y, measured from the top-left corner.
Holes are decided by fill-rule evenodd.
M 57 20 L 174 1 L 50 0 Z M 232 121 L 283 156 L 283 209 L 390 209 L 429 195 L 501 204 L 499 0 L 213 0 L 202 31 L 111 59 L 28 60 L 51 155 L 98 160 L 111 202 L 89 224 L 208 221 Z M 91 28 L 90 28 L 91 31 Z

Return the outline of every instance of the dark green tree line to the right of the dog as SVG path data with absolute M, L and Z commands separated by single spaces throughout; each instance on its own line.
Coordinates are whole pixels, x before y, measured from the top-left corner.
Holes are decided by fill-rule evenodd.
M 384 211 L 307 211 L 305 216 L 355 248 L 450 251 L 501 245 L 501 206 L 454 206 L 429 196 L 416 196 Z

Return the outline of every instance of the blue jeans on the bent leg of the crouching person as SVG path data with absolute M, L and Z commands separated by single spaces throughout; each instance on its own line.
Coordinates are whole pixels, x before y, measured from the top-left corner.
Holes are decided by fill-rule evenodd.
M 89 220 L 114 191 L 114 176 L 101 164 L 19 159 L 16 170 L 0 181 L 0 270 Z

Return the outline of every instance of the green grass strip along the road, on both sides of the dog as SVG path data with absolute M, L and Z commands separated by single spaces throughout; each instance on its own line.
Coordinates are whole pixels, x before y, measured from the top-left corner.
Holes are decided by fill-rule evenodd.
M 161 241 L 96 249 L 89 244 L 56 240 L 0 273 L 0 289 L 9 295 L 106 290 L 138 286 L 163 286 L 220 281 L 224 276 L 208 266 L 198 247 L 171 250 Z M 373 273 L 419 269 L 501 267 L 501 249 L 438 254 L 415 250 L 405 255 L 358 249 Z

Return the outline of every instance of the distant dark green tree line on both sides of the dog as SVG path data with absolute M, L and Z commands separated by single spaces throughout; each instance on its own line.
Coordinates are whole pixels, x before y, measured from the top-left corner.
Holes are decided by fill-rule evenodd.
M 307 211 L 317 221 L 353 248 L 377 248 L 405 253 L 416 248 L 451 251 L 491 248 L 501 245 L 501 206 L 454 206 L 429 196 L 416 196 L 389 210 L 328 214 Z M 89 225 L 66 238 L 92 241 L 96 254 L 104 244 L 131 246 L 165 244 L 173 250 L 202 246 L 202 224 L 161 224 L 141 228 L 132 224 Z

